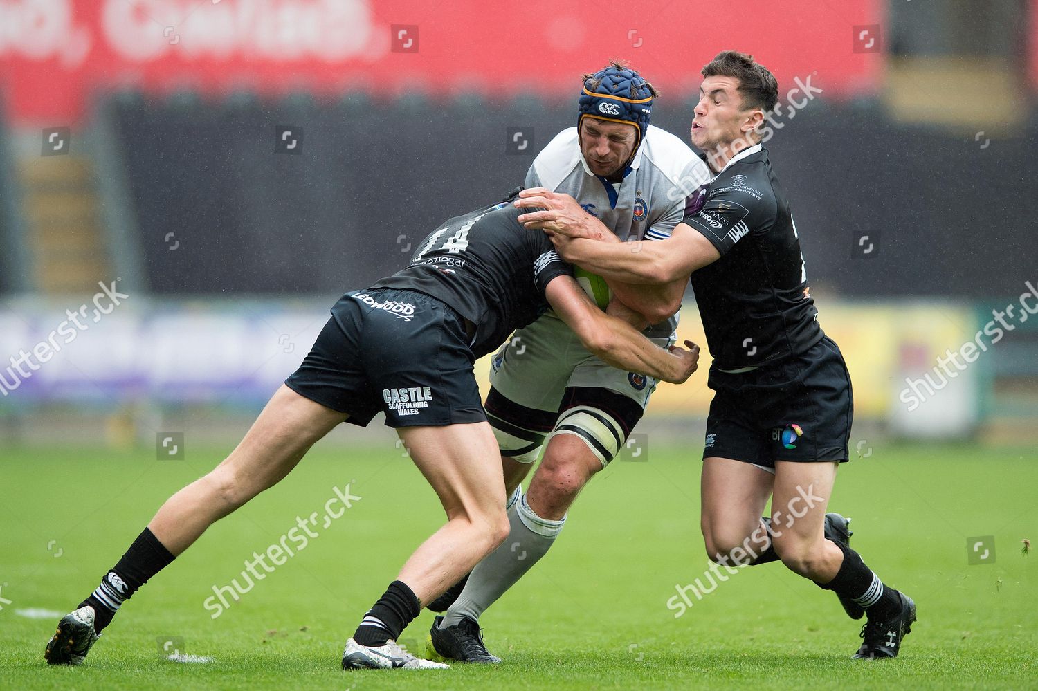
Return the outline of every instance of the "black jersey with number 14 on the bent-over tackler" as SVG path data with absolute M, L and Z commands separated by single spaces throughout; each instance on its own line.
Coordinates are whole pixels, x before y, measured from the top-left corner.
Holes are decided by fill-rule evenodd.
M 417 291 L 450 305 L 475 326 L 473 354 L 486 355 L 548 309 L 551 279 L 573 275 L 544 232 L 516 220 L 528 211 L 506 201 L 453 218 L 418 244 L 406 269 L 372 287 Z

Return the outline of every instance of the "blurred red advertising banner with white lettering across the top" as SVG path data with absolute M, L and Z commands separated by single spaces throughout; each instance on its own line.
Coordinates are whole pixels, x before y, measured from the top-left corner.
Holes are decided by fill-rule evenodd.
M 0 0 L 0 88 L 16 122 L 54 125 L 82 117 L 92 92 L 126 85 L 551 95 L 622 57 L 664 92 L 686 94 L 704 63 L 737 49 L 770 67 L 782 93 L 811 76 L 842 98 L 875 86 L 880 5 Z

